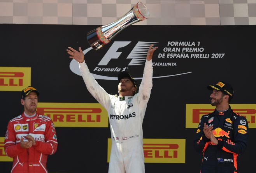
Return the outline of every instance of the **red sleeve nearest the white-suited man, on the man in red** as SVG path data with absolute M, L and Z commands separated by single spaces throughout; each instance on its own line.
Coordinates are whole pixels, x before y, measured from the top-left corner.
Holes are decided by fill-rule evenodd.
M 37 151 L 43 154 L 54 154 L 57 150 L 58 142 L 55 127 L 52 120 L 50 120 L 50 122 L 47 124 L 44 136 L 45 142 L 36 141 L 36 144 L 33 147 L 35 147 Z

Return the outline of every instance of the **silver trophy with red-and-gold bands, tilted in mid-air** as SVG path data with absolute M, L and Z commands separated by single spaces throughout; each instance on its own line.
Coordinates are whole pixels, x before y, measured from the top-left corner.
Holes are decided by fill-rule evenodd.
M 89 45 L 98 50 L 107 45 L 119 32 L 127 26 L 149 18 L 149 10 L 142 2 L 138 2 L 123 17 L 108 25 L 103 25 L 87 33 Z

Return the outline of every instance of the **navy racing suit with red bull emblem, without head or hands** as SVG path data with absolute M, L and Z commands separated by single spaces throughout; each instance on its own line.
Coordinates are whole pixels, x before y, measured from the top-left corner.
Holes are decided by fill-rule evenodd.
M 204 123 L 214 127 L 217 145 L 205 137 Z M 248 133 L 246 118 L 231 108 L 202 116 L 194 141 L 196 151 L 203 152 L 201 173 L 237 173 L 237 156 L 246 149 Z

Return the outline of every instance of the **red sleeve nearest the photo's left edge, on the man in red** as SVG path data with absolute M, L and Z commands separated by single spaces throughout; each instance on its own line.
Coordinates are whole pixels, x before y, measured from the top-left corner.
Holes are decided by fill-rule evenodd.
M 21 148 L 20 143 L 16 144 L 16 133 L 14 131 L 14 125 L 9 122 L 4 139 L 4 150 L 7 156 L 14 158 L 18 154 L 27 149 Z

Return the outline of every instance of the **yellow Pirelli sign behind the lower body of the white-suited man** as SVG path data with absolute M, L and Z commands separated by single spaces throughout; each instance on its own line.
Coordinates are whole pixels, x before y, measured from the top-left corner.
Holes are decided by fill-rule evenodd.
M 145 163 L 185 163 L 186 139 L 143 139 Z M 108 139 L 107 162 L 112 140 Z

